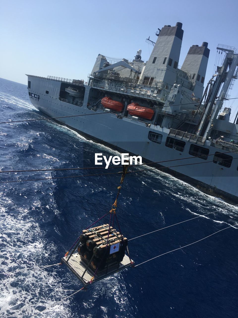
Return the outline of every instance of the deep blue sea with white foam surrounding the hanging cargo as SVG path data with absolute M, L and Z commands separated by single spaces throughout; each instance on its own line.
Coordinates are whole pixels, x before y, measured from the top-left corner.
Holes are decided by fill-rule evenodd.
M 42 116 L 26 85 L 0 79 L 1 122 Z M 53 121 L 0 124 L 1 170 L 92 167 L 95 152 L 116 154 Z M 0 182 L 89 173 L 1 173 Z M 109 175 L 0 184 L 0 272 L 19 269 L 0 274 L 0 317 L 30 318 L 82 287 L 66 266 L 28 268 L 60 262 L 81 230 L 109 211 L 119 180 Z M 129 242 L 131 258 L 139 264 L 235 225 L 238 208 L 165 173 L 145 171 L 126 176 L 117 215 L 130 239 L 212 211 Z M 237 234 L 231 227 L 129 267 L 39 317 L 235 318 Z

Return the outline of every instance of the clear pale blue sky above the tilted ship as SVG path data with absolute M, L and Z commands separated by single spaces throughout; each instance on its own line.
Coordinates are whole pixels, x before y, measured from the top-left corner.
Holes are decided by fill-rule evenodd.
M 179 65 L 191 45 L 208 42 L 205 83 L 213 73 L 217 44 L 238 48 L 235 0 L 0 0 L 0 10 L 0 77 L 23 84 L 25 73 L 87 80 L 98 53 L 131 59 L 142 49 L 147 60 L 153 47 L 145 39 L 150 35 L 155 41 L 157 28 L 176 22 L 184 30 Z M 233 97 L 237 88 L 236 83 Z

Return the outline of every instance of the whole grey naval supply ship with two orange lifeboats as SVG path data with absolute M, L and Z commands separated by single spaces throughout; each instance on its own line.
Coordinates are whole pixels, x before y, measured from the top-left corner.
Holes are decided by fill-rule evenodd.
M 99 54 L 87 83 L 26 74 L 30 100 L 48 117 L 94 114 L 57 121 L 144 162 L 161 162 L 162 171 L 237 204 L 238 120 L 229 121 L 223 104 L 237 79 L 238 54 L 218 45 L 224 59 L 204 89 L 208 43 L 192 45 L 179 66 L 182 23 L 156 36 L 147 39 L 154 46 L 148 61 L 141 50 L 133 60 Z

